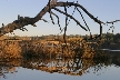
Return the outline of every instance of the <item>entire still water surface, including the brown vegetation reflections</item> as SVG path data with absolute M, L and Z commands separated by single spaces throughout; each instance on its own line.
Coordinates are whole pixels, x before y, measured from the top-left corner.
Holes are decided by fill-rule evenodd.
M 0 59 L 0 80 L 120 80 L 120 52 L 108 53 L 108 59 Z

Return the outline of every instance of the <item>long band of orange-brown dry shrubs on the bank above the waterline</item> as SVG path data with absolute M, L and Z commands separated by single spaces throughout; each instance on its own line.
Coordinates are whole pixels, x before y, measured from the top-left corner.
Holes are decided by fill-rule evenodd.
M 52 58 L 58 57 L 61 52 L 61 57 L 76 57 L 80 58 L 93 58 L 94 51 L 82 42 L 82 46 L 79 46 L 79 42 L 69 41 L 69 44 L 54 44 L 48 47 L 43 41 L 0 41 L 0 58 L 31 58 L 31 57 L 41 57 L 41 58 Z

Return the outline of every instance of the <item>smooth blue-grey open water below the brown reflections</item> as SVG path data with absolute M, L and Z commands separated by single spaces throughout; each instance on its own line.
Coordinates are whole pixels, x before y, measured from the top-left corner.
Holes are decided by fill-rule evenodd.
M 1 80 L 120 80 L 120 69 L 111 66 L 96 73 L 84 73 L 83 76 L 68 76 L 63 73 L 49 73 L 40 70 L 17 68 L 18 72 L 7 74 L 7 79 Z

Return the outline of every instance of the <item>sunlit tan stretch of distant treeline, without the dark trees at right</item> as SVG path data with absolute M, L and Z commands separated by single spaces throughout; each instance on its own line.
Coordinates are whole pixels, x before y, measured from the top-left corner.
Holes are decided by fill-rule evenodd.
M 70 34 L 70 36 L 66 36 L 66 39 L 70 39 L 70 38 L 81 38 L 80 34 Z M 59 40 L 59 39 L 63 39 L 63 36 L 56 36 L 56 34 L 49 34 L 49 36 L 33 36 L 33 37 L 20 37 L 20 36 L 13 36 L 13 37 L 9 37 L 9 36 L 2 36 L 0 37 L 0 40 L 4 40 L 4 39 L 9 39 L 9 40 L 17 40 L 17 39 L 21 39 L 21 40 Z

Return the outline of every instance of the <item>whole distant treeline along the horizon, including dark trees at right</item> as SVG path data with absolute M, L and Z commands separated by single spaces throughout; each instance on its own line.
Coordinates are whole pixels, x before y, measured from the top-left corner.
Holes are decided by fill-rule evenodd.
M 97 37 L 98 34 L 92 34 L 92 37 Z M 84 38 L 84 39 L 89 39 L 90 36 L 86 34 L 86 36 L 81 36 L 81 34 L 69 34 L 66 36 L 66 39 L 71 39 L 71 38 Z M 57 36 L 57 34 L 49 34 L 49 36 L 34 36 L 34 37 L 19 37 L 19 36 L 13 36 L 13 37 L 9 37 L 9 36 L 3 36 L 0 37 L 0 40 L 4 40 L 4 39 L 11 39 L 11 40 L 16 40 L 16 39 L 20 39 L 20 40 L 59 40 L 59 39 L 63 39 L 63 36 Z M 94 40 L 89 40 L 89 41 L 101 41 L 102 43 L 107 42 L 107 43 L 120 43 L 120 33 L 102 33 L 101 40 L 94 39 Z

